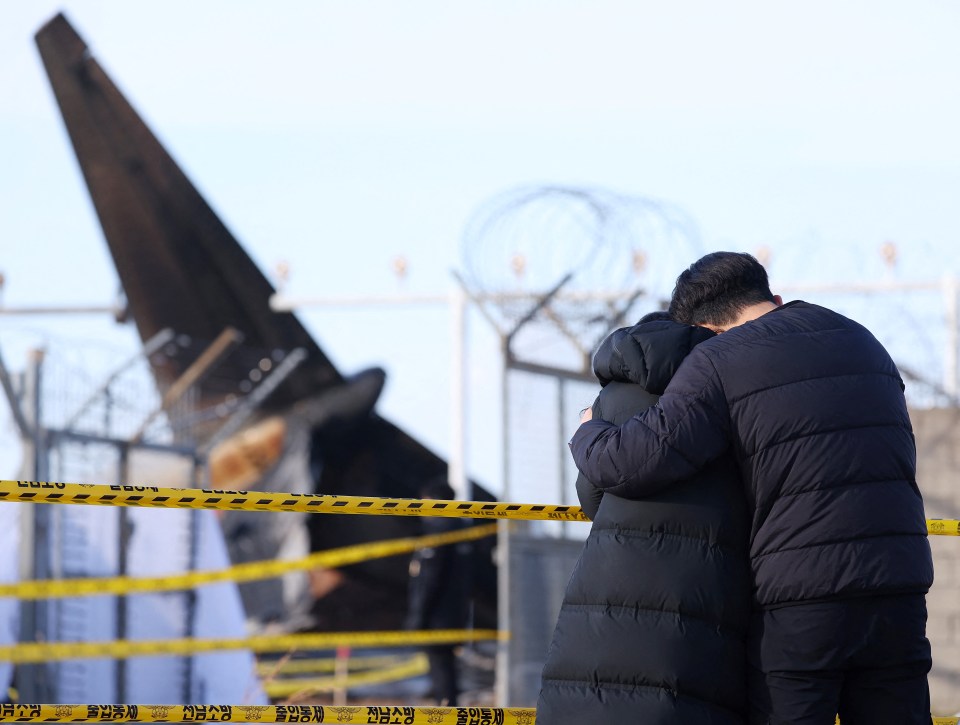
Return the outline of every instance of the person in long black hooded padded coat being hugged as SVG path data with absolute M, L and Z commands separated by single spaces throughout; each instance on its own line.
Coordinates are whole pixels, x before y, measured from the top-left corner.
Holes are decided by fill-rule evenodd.
M 598 417 L 655 404 L 714 333 L 653 313 L 594 356 Z M 642 501 L 577 481 L 593 519 L 567 585 L 537 703 L 544 725 L 745 721 L 747 509 L 730 457 Z

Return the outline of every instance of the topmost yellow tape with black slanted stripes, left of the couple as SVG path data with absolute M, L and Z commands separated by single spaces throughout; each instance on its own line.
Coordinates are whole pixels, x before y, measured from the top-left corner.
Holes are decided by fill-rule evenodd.
M 0 501 L 226 509 L 233 511 L 303 511 L 317 514 L 589 521 L 579 506 L 557 506 L 555 504 L 436 501 L 414 498 L 325 496 L 313 493 L 162 488 L 159 486 L 104 486 L 92 483 L 49 483 L 44 481 L 0 480 Z

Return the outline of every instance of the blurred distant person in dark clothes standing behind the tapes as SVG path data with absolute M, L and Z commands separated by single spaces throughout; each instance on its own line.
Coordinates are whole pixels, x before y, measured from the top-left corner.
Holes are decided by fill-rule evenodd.
M 453 489 L 445 479 L 427 482 L 421 498 L 450 500 Z M 425 516 L 423 534 L 443 534 L 464 527 L 459 518 Z M 464 629 L 469 617 L 469 543 L 417 549 L 410 559 L 410 584 L 406 628 Z M 424 647 L 430 663 L 432 699 L 456 707 L 460 692 L 456 643 Z

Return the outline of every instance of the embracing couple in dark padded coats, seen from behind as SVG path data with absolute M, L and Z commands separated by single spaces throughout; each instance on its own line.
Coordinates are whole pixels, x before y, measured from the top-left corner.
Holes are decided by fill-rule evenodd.
M 874 336 L 717 252 L 594 368 L 537 723 L 929 725 L 933 563 Z

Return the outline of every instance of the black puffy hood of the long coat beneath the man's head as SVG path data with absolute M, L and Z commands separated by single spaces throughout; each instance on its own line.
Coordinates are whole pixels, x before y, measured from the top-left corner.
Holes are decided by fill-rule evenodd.
M 716 333 L 672 320 L 639 322 L 612 332 L 593 356 L 600 385 L 635 383 L 661 395 L 680 363 L 694 347 Z

